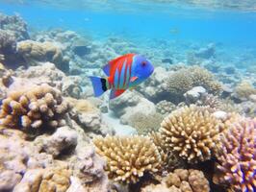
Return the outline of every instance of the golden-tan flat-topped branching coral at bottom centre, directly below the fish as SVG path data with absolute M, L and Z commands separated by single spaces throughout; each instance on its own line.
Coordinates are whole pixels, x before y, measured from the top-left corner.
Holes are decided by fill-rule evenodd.
M 158 149 L 147 136 L 97 137 L 93 142 L 96 152 L 107 160 L 109 178 L 115 181 L 136 183 L 161 165 Z

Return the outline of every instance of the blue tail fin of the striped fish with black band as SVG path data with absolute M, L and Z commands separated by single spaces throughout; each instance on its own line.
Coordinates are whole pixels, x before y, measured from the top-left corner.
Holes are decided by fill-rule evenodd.
M 95 97 L 99 97 L 108 90 L 108 80 L 106 78 L 90 77 Z

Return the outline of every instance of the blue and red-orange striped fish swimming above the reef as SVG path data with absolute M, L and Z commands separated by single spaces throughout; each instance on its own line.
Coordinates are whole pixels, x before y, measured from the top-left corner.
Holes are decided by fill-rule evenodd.
M 103 67 L 107 78 L 90 77 L 95 97 L 111 89 L 110 99 L 121 95 L 146 80 L 154 71 L 149 60 L 140 55 L 126 54 L 111 60 Z

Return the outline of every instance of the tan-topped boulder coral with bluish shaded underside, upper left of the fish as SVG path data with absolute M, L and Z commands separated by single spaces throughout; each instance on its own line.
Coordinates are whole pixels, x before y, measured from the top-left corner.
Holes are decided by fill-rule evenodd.
M 17 52 L 30 65 L 38 65 L 38 61 L 50 61 L 64 72 L 69 70 L 69 59 L 63 56 L 61 48 L 53 42 L 20 41 L 17 44 Z

